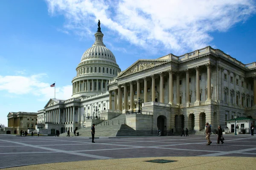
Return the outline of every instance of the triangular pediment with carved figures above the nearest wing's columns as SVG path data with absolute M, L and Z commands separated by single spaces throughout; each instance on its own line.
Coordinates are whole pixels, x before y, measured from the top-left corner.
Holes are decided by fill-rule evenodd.
M 137 62 L 134 62 L 133 65 L 128 67 L 125 71 L 122 71 L 121 74 L 117 76 L 123 77 L 130 74 L 135 74 L 140 71 L 145 71 L 153 67 L 157 67 L 158 65 L 161 65 L 165 62 L 169 62 L 169 60 L 163 60 L 163 59 L 139 59 Z

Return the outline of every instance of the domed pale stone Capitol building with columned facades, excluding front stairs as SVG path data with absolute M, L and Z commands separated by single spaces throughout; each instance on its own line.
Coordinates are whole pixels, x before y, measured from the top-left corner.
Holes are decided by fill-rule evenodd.
M 243 64 L 207 46 L 182 56 L 139 59 L 121 71 L 98 26 L 76 67 L 72 98 L 50 99 L 38 111 L 41 133 L 72 132 L 119 115 L 134 130 L 164 134 L 204 130 L 205 122 L 225 127 L 234 116 L 256 119 L 256 62 Z

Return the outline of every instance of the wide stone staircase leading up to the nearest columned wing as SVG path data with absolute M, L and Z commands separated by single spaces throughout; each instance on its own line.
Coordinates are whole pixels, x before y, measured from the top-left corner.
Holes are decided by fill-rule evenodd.
M 91 136 L 91 127 L 85 127 L 76 132 L 79 132 L 79 136 Z M 62 133 L 60 136 L 67 136 L 67 133 Z M 73 132 L 70 132 L 70 136 L 75 135 Z M 152 136 L 152 134 L 136 131 L 125 125 L 125 114 L 120 114 L 110 120 L 104 120 L 95 125 L 95 137 L 97 136 Z

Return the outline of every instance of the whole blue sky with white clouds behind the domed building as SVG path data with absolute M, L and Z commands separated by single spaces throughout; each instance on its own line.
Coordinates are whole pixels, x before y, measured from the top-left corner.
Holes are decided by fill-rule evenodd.
M 1 0 L 0 123 L 10 111 L 36 112 L 68 99 L 76 66 L 103 41 L 124 70 L 137 59 L 182 55 L 211 45 L 243 63 L 256 61 L 254 0 Z

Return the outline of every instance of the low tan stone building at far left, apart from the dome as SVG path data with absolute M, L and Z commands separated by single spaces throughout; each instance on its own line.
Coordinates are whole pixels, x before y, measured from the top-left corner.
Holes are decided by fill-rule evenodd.
M 19 134 L 20 130 L 35 130 L 37 113 L 35 112 L 9 112 L 7 115 L 8 127 L 5 127 L 6 134 Z

